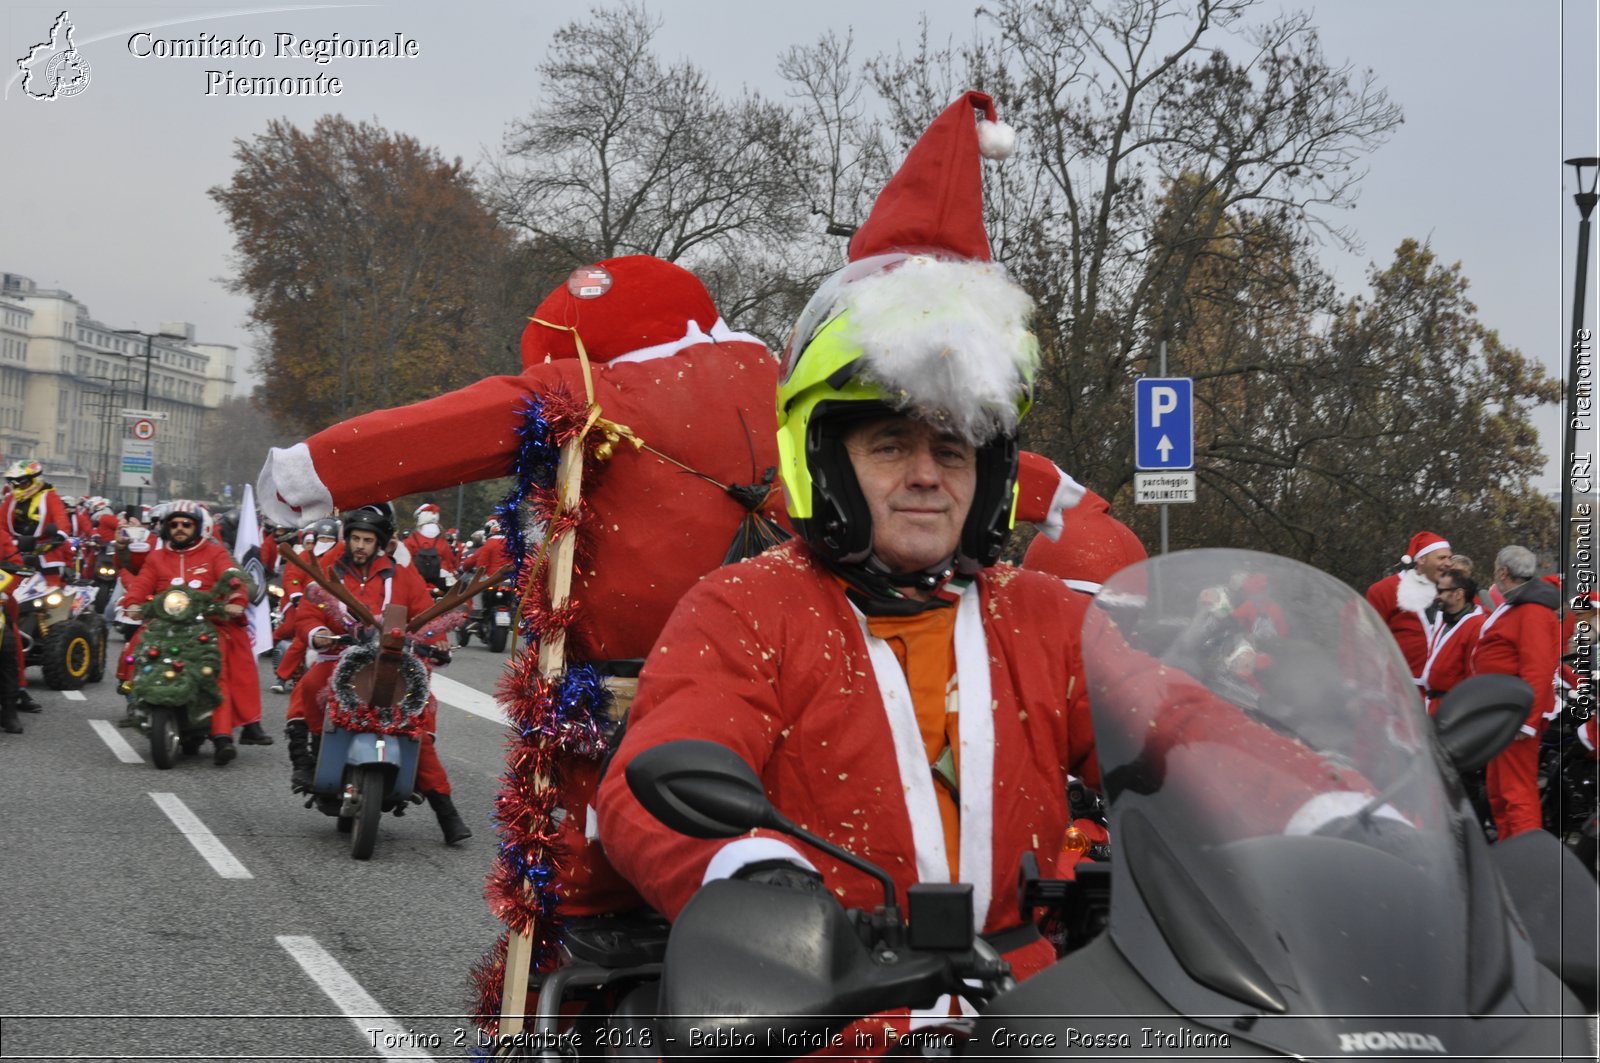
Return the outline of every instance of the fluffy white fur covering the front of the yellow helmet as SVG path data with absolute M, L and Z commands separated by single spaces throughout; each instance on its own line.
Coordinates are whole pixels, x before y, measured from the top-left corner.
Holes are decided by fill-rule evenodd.
M 862 376 L 974 447 L 1016 431 L 1038 367 L 1034 299 L 1002 266 L 914 255 L 843 290 Z

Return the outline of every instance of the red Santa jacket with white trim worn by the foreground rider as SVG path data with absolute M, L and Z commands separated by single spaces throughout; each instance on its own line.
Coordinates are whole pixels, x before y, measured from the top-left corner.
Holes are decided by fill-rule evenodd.
M 1054 864 L 1069 826 L 1067 773 L 1099 786 L 1075 637 L 1088 602 L 1054 576 L 1000 565 L 982 572 L 955 605 L 960 872 L 973 884 L 984 930 L 1018 924 L 1016 869 L 1024 852 L 1042 866 Z M 1178 706 L 1163 724 L 1168 748 L 1222 748 L 1243 735 L 1232 744 L 1264 751 L 1285 778 L 1309 776 L 1320 786 L 1330 778 L 1328 765 L 1304 748 L 1131 650 L 1126 682 L 1133 704 L 1158 698 Z M 838 581 L 800 543 L 722 568 L 683 597 L 645 663 L 627 733 L 600 788 L 606 855 L 669 917 L 707 869 L 720 871 L 730 844 L 686 839 L 662 826 L 629 791 L 626 767 L 640 749 L 706 736 L 750 764 L 787 816 L 885 868 L 901 890 L 949 880 L 933 775 L 904 672 L 888 644 L 867 637 Z M 1245 778 L 1235 784 L 1227 772 L 1216 775 L 1216 799 L 1259 805 L 1270 820 L 1264 829 L 1282 828 L 1309 796 L 1275 800 L 1242 792 Z M 790 844 L 755 834 L 731 845 Z M 882 900 L 875 880 L 792 844 L 843 905 L 870 908 Z M 1013 964 L 1027 973 L 1051 959 L 1046 946 L 1042 956 Z

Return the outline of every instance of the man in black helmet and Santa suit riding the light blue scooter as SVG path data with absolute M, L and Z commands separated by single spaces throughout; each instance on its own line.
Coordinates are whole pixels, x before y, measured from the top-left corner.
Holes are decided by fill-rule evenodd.
M 427 584 L 406 565 L 397 565 L 384 551 L 394 540 L 395 520 L 389 506 L 362 506 L 344 515 L 344 552 L 328 567 L 328 576 L 338 580 L 358 597 L 373 613 L 379 616 L 386 605 L 397 604 L 406 607 L 408 616 L 416 616 L 434 604 Z M 290 784 L 296 792 L 307 792 L 312 788 L 317 770 L 317 746 L 322 740 L 323 711 L 317 703 L 317 695 L 331 682 L 333 671 L 344 653 L 344 645 L 334 642 L 336 636 L 352 634 L 355 623 L 342 616 L 342 607 L 336 602 L 301 600 L 299 628 L 307 645 L 315 655 L 315 663 L 306 677 L 294 685 L 290 698 L 288 724 L 285 735 L 290 743 L 290 764 L 293 773 Z M 442 640 L 442 639 L 440 639 Z M 461 813 L 450 797 L 450 776 L 438 760 L 434 748 L 434 730 L 437 727 L 438 703 L 432 695 L 427 698 L 421 749 L 418 751 L 416 788 L 427 797 L 438 829 L 445 836 L 446 845 L 458 845 L 472 837 Z

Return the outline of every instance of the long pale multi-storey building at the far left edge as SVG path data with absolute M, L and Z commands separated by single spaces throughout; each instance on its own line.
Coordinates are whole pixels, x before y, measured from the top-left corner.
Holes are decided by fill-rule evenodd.
M 0 458 L 38 461 L 66 495 L 131 501 L 134 488 L 120 487 L 125 410 L 149 410 L 163 416 L 146 501 L 195 490 L 202 424 L 234 394 L 238 351 L 197 343 L 187 322 L 157 331 L 117 330 L 67 291 L 0 274 Z

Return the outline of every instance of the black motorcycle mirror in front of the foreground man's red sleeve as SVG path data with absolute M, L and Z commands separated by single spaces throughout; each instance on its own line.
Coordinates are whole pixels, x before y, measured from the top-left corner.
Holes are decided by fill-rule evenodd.
M 650 815 L 690 837 L 782 829 L 762 781 L 739 754 L 701 738 L 645 749 L 627 764 L 627 788 Z

